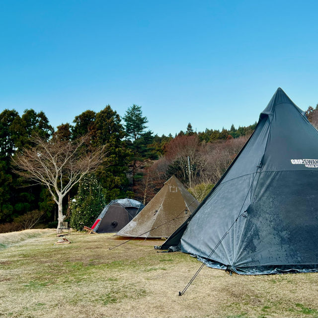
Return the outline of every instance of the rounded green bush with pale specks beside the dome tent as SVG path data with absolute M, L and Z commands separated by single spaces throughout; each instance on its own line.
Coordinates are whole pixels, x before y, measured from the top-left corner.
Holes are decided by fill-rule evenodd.
M 104 206 L 105 200 L 100 183 L 94 175 L 86 177 L 80 182 L 78 194 L 71 203 L 70 226 L 78 231 L 84 226 L 90 227 Z

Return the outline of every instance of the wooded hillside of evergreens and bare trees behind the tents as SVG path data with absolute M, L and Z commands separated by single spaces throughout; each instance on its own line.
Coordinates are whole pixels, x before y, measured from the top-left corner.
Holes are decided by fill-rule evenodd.
M 318 128 L 318 105 L 315 109 L 309 106 L 306 115 Z M 99 112 L 86 110 L 72 124 L 54 129 L 42 111 L 27 109 L 20 115 L 5 109 L 0 113 L 0 233 L 57 226 L 57 206 L 48 188 L 23 179 L 12 162 L 14 156 L 35 146 L 35 136 L 74 142 L 85 135 L 89 137 L 86 145 L 107 151 L 100 167 L 64 198 L 65 221 L 76 224 L 72 211 L 75 215 L 75 211 L 89 208 L 88 222 L 113 199 L 129 197 L 147 204 L 171 175 L 202 201 L 255 127 L 256 122 L 247 127 L 232 125 L 229 130 L 194 132 L 188 123 L 175 136 L 158 136 L 149 130 L 141 106 L 128 107 L 121 118 L 107 105 Z

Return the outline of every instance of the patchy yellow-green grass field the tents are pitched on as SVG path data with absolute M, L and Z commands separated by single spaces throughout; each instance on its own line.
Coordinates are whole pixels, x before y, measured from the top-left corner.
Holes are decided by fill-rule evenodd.
M 0 234 L 0 317 L 199 318 L 318 317 L 318 273 L 230 276 L 177 253 L 161 240 L 72 234 L 55 245 L 50 230 Z

